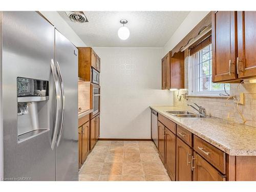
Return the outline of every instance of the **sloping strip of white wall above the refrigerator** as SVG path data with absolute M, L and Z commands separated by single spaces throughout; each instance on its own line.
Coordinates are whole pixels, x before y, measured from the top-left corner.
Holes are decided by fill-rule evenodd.
M 66 23 L 66 21 L 58 14 L 57 11 L 40 11 L 49 22 L 69 39 L 76 47 L 86 47 L 86 44 L 81 40 L 81 38 L 74 32 L 74 30 Z

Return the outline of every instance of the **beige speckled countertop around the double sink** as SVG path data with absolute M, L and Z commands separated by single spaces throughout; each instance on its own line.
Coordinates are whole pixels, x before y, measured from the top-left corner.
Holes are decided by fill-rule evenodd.
M 150 106 L 166 118 L 232 156 L 256 156 L 256 127 L 230 124 L 219 118 L 178 118 L 165 111 L 183 111 L 174 106 Z

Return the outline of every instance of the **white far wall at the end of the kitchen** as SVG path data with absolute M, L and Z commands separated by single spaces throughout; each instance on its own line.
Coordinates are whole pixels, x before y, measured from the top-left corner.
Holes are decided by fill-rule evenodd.
M 101 58 L 100 138 L 151 138 L 150 105 L 173 105 L 161 90 L 162 48 L 94 48 Z

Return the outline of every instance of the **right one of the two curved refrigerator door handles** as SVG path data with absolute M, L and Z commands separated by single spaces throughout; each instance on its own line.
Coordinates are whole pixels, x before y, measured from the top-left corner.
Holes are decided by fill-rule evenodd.
M 60 68 L 59 68 L 59 63 L 58 61 L 56 62 L 56 69 L 57 69 L 57 74 L 59 77 L 59 81 L 60 81 L 60 93 L 61 93 L 61 119 L 60 119 L 60 131 L 59 131 L 59 136 L 57 139 L 57 146 L 59 146 L 59 142 L 63 133 L 63 123 L 64 123 L 64 117 L 65 117 L 65 94 L 64 94 L 64 87 L 63 87 L 63 80 L 62 80 L 62 76 L 60 73 Z

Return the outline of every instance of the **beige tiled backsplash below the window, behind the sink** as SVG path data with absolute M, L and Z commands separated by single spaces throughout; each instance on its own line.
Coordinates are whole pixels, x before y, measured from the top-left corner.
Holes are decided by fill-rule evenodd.
M 256 83 L 246 83 L 241 84 L 238 88 L 238 84 L 230 84 L 230 95 L 244 93 L 244 104 L 239 104 L 239 109 L 242 112 L 243 116 L 246 119 L 245 124 L 249 126 L 256 127 Z M 185 93 L 187 91 L 180 91 L 179 95 Z M 177 99 L 178 91 L 174 92 L 174 106 L 178 106 L 185 110 L 194 110 L 187 104 L 197 103 L 203 106 L 206 109 L 207 115 L 211 115 L 214 117 L 219 117 L 222 119 L 226 119 L 228 113 L 230 113 L 230 118 L 237 118 L 237 121 L 242 122 L 242 119 L 236 109 L 236 113 L 234 112 L 234 107 L 237 106 L 236 103 L 233 102 L 233 99 L 230 98 L 227 101 L 227 98 L 216 98 L 216 97 L 187 97 L 187 100 L 183 99 L 179 101 Z

